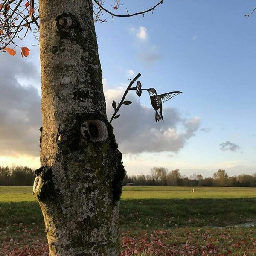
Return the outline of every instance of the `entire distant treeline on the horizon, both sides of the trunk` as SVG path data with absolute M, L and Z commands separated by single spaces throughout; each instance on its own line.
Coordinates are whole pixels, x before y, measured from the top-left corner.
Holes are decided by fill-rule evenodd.
M 29 167 L 0 166 L 0 186 L 33 186 L 34 170 Z M 219 169 L 213 177 L 203 177 L 193 174 L 190 177 L 182 176 L 180 170 L 168 171 L 163 167 L 154 167 L 148 175 L 126 175 L 123 185 L 133 183 L 134 186 L 242 186 L 256 187 L 256 173 L 253 175 L 241 174 L 228 176 L 225 170 Z

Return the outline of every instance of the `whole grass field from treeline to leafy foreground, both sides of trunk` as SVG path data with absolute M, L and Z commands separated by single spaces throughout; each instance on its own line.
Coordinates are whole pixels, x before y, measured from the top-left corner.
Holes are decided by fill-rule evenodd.
M 256 256 L 256 188 L 124 187 L 125 255 Z M 48 255 L 32 187 L 0 187 L 0 256 Z

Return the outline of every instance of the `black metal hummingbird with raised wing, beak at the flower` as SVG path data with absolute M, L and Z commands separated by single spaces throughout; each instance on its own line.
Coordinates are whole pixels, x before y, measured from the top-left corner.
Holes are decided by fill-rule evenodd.
M 162 103 L 182 93 L 179 91 L 175 91 L 175 92 L 169 92 L 169 93 L 163 93 L 163 94 L 157 95 L 157 91 L 154 88 L 141 89 L 141 90 L 146 90 L 149 93 L 151 105 L 156 111 L 156 122 L 160 121 L 161 119 L 163 120 Z

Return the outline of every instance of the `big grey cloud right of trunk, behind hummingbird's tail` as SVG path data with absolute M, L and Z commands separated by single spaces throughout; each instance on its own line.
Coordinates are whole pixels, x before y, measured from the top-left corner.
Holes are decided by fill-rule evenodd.
M 113 114 L 111 104 L 122 95 L 111 90 L 106 93 L 107 113 L 110 119 Z M 183 119 L 176 108 L 163 108 L 164 122 L 155 122 L 153 108 L 141 105 L 137 96 L 129 96 L 131 105 L 123 105 L 120 117 L 111 123 L 119 143 L 120 150 L 127 153 L 141 152 L 177 152 L 186 141 L 194 136 L 199 128 L 199 119 Z

